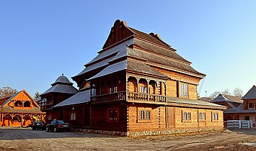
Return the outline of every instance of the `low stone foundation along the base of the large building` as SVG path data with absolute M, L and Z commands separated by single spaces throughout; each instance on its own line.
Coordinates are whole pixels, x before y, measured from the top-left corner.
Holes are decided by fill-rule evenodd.
M 223 131 L 223 127 L 219 128 L 206 128 L 206 129 L 175 129 L 165 131 L 148 131 L 148 132 L 115 132 L 115 131 L 104 131 L 94 129 L 81 129 L 74 128 L 74 131 L 95 133 L 95 134 L 107 134 L 107 135 L 118 135 L 123 137 L 143 137 L 143 136 L 157 136 L 157 135 L 170 135 L 170 134 L 186 134 L 195 132 L 220 132 Z

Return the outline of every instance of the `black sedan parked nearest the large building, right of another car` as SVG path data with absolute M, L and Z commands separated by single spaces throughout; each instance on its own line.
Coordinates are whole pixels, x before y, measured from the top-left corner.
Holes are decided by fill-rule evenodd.
M 63 120 L 53 120 L 50 124 L 46 125 L 46 132 L 60 132 L 60 131 L 71 131 L 71 124 L 63 121 Z

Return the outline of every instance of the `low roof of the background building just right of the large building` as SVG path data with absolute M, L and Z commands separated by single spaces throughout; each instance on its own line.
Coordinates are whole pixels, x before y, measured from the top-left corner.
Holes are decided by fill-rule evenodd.
M 230 95 L 226 95 L 226 94 L 219 94 L 219 96 L 216 96 L 215 99 L 213 99 L 211 101 L 211 103 L 216 103 L 216 102 L 232 102 L 232 103 L 240 103 L 242 104 L 242 100 L 240 97 L 238 96 L 230 96 Z

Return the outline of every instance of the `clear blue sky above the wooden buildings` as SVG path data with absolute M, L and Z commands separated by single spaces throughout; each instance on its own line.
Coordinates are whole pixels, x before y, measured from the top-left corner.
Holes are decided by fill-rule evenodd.
M 0 87 L 43 93 L 70 80 L 116 19 L 158 33 L 206 73 L 202 95 L 256 84 L 256 1 L 0 1 Z M 74 81 L 72 81 L 74 82 Z M 74 83 L 76 86 L 76 83 Z

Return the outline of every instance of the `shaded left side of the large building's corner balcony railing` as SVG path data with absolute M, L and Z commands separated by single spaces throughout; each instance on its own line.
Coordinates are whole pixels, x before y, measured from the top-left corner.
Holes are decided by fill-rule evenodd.
M 103 103 L 103 102 L 124 101 L 124 100 L 125 100 L 125 91 L 91 97 L 92 103 Z

